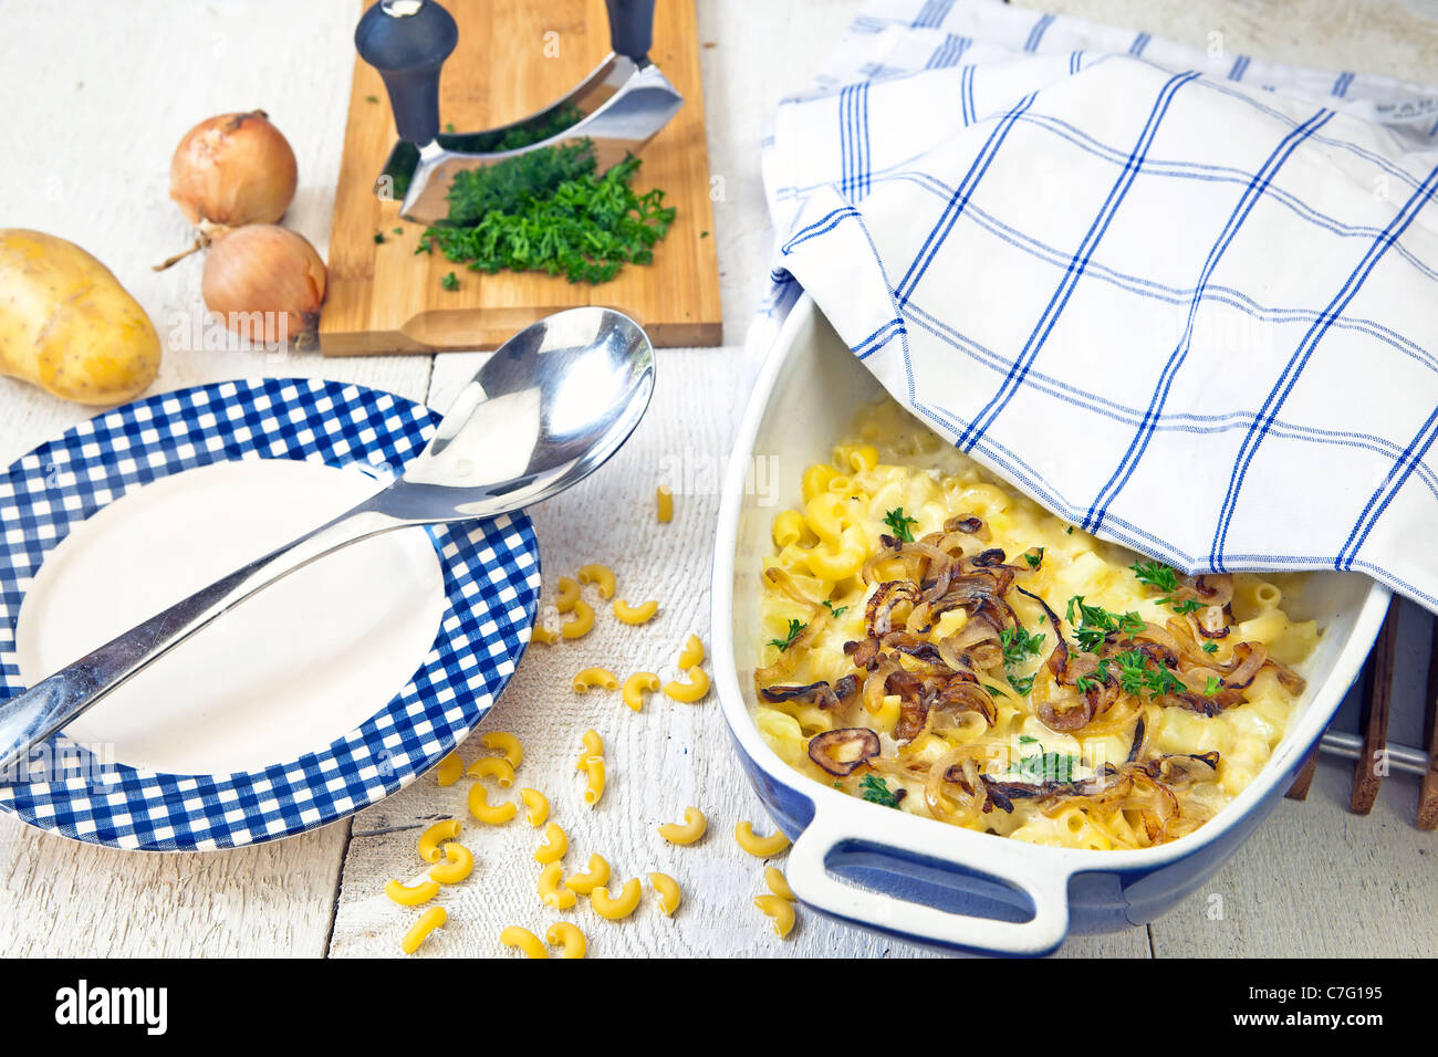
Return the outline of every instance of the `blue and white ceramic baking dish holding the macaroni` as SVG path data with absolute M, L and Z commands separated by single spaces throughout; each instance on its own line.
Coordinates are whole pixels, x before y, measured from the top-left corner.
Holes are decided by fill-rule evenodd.
M 798 506 L 805 466 L 827 462 L 880 395 L 808 295 L 795 305 L 749 398 L 725 475 L 713 568 L 715 686 L 739 759 L 794 840 L 787 873 L 812 909 L 948 949 L 1044 955 L 1068 933 L 1153 920 L 1195 892 L 1277 805 L 1359 674 L 1389 591 L 1349 572 L 1311 574 L 1304 604 L 1323 634 L 1290 729 L 1267 767 L 1195 833 L 1136 851 L 1027 844 L 893 811 L 788 767 L 752 719 L 759 568 L 774 513 Z M 771 488 L 758 489 L 755 482 Z

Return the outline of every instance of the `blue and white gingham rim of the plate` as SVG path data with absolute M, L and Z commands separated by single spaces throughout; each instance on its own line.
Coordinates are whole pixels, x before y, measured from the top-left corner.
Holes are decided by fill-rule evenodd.
M 221 381 L 105 411 L 0 476 L 0 696 L 24 686 L 16 618 L 40 562 L 132 488 L 197 466 L 298 459 L 387 479 L 440 416 L 393 393 L 312 378 Z M 437 764 L 489 712 L 533 627 L 539 546 L 523 513 L 427 529 L 447 597 L 410 682 L 325 749 L 262 771 L 175 775 L 104 759 L 63 733 L 50 781 L 0 781 L 0 810 L 75 840 L 203 851 L 290 837 L 360 811 Z

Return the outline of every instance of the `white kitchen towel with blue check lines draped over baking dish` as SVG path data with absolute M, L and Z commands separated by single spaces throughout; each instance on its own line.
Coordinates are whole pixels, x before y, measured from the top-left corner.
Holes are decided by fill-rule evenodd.
M 1438 89 L 889 0 L 764 165 L 769 324 L 808 290 L 1053 512 L 1438 610 Z

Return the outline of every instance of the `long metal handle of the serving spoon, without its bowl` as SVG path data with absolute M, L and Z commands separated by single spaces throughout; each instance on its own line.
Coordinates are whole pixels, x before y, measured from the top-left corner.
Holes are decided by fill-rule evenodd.
M 244 568 L 221 577 L 188 598 L 125 631 L 29 690 L 0 702 L 0 779 L 43 781 L 23 761 L 106 693 L 162 657 L 226 610 L 316 558 L 406 522 L 372 509 L 370 502 L 292 539 Z M 20 767 L 16 767 L 20 764 Z M 37 761 L 36 771 L 46 771 Z

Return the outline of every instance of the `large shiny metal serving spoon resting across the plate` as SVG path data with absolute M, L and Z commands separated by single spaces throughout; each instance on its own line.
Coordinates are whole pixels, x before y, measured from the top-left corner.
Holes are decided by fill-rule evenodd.
M 607 308 L 541 319 L 500 345 L 393 485 L 0 703 L 0 772 L 216 617 L 316 558 L 414 525 L 495 518 L 598 469 L 644 417 L 654 349 Z

